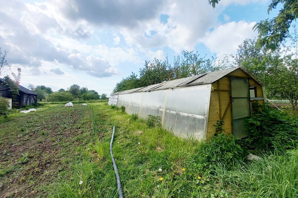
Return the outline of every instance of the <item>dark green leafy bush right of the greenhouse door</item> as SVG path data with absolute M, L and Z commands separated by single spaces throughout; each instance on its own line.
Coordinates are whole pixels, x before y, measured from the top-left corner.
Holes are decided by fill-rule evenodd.
M 247 119 L 247 145 L 259 149 L 293 149 L 298 146 L 298 123 L 278 110 L 264 107 Z

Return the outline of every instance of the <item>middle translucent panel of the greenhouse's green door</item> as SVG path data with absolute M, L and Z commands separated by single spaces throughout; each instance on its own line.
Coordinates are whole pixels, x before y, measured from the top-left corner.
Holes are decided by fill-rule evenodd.
M 233 99 L 233 119 L 244 118 L 251 115 L 249 102 L 247 98 Z

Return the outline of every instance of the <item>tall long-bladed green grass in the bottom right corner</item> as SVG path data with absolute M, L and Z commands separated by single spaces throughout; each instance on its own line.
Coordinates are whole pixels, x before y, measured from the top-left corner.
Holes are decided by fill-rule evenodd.
M 220 185 L 240 197 L 298 197 L 298 149 L 263 156 L 260 161 L 239 163 L 228 171 L 221 164 L 216 169 Z

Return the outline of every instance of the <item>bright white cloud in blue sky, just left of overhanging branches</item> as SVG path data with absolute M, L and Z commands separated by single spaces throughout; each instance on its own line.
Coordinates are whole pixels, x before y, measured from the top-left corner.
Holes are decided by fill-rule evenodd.
M 246 38 L 254 38 L 257 33 L 252 30 L 255 22 L 229 22 L 218 26 L 201 40 L 213 53 L 235 54 L 238 45 Z

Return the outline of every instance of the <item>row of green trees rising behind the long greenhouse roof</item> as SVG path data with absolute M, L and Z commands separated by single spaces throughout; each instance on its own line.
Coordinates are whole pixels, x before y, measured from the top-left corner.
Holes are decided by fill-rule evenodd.
M 201 56 L 198 52 L 183 51 L 181 56 L 174 56 L 172 62 L 169 62 L 168 57 L 165 61 L 156 58 L 151 62 L 145 61 L 144 66 L 140 68 L 139 78 L 132 73 L 129 77 L 122 79 L 116 84 L 113 93 L 210 71 L 218 71 L 228 67 L 231 66 L 229 65 L 227 55 L 224 55 L 224 59 L 220 61 L 215 56 L 206 59 L 205 56 Z

